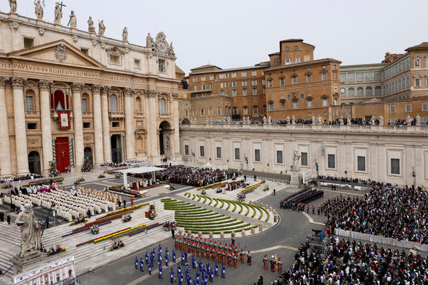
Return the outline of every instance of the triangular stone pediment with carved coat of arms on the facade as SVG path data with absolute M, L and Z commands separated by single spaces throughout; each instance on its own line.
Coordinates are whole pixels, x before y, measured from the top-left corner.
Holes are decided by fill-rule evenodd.
M 19 59 L 36 59 L 39 61 L 64 63 L 70 66 L 104 68 L 99 61 L 89 57 L 72 44 L 64 41 L 64 39 L 45 43 L 41 46 L 10 52 L 8 56 Z

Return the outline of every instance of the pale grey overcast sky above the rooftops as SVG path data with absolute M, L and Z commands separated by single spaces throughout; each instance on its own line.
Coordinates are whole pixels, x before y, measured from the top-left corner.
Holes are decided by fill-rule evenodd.
M 53 22 L 57 0 L 45 0 L 44 19 Z M 35 18 L 33 0 L 17 0 L 18 12 Z M 301 38 L 316 46 L 315 59 L 342 64 L 378 63 L 385 52 L 404 52 L 428 41 L 427 0 L 64 0 L 65 26 L 71 10 L 77 27 L 104 19 L 106 37 L 146 45 L 159 31 L 173 41 L 177 66 L 186 74 L 207 63 L 220 68 L 252 66 L 268 60 L 282 39 Z M 9 12 L 7 0 L 1 12 Z

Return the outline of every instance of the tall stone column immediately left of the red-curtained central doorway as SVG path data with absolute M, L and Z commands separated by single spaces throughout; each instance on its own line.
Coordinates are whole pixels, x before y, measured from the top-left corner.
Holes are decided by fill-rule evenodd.
M 49 171 L 49 161 L 52 161 L 52 127 L 50 119 L 50 82 L 39 81 L 41 146 L 43 150 L 43 172 Z

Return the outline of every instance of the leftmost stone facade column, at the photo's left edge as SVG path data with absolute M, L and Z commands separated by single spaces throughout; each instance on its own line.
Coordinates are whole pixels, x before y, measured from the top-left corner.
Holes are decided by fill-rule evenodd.
M 10 141 L 9 141 L 9 124 L 8 110 L 6 110 L 6 82 L 8 77 L 0 77 L 0 149 L 2 155 L 0 159 L 0 176 L 12 174 L 10 165 Z

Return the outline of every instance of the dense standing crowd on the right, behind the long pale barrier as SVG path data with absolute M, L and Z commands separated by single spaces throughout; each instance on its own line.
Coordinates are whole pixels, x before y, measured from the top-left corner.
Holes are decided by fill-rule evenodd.
M 329 206 L 327 226 L 428 244 L 428 193 L 414 186 L 373 186 L 362 199 Z M 346 208 L 345 208 L 346 207 Z

